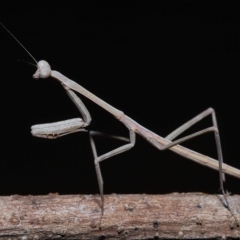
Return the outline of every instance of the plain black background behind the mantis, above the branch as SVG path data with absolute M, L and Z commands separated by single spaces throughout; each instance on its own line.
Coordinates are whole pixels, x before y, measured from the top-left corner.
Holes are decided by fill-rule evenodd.
M 237 1 L 236 1 L 237 2 Z M 160 136 L 208 107 L 216 110 L 224 161 L 240 168 L 239 4 L 231 1 L 15 1 L 0 21 L 37 59 Z M 31 125 L 79 117 L 61 85 L 34 80 L 34 63 L 0 28 L 0 194 L 96 194 L 88 133 L 35 138 Z M 89 129 L 128 136 L 114 117 L 81 97 Z M 211 118 L 185 133 L 211 126 Z M 99 154 L 122 142 L 96 139 Z M 214 135 L 183 144 L 216 158 Z M 101 163 L 105 193 L 219 193 L 218 172 L 160 152 L 141 137 Z M 229 176 L 228 189 L 240 193 Z

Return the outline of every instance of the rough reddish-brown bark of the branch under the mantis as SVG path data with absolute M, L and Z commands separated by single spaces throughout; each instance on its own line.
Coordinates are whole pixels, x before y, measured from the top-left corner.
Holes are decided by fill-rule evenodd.
M 0 197 L 0 239 L 239 238 L 240 196 L 93 195 Z

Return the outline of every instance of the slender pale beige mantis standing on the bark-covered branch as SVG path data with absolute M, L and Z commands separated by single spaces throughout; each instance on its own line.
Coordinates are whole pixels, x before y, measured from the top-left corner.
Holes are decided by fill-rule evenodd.
M 19 41 L 17 40 L 17 42 L 19 42 Z M 20 42 L 19 42 L 19 44 L 23 47 L 23 45 Z M 32 57 L 32 55 L 29 52 L 28 52 L 28 54 Z M 116 109 L 116 108 L 112 107 L 111 105 L 109 105 L 108 103 L 104 102 L 103 100 L 101 100 L 100 98 L 98 98 L 97 96 L 95 96 L 94 94 L 89 92 L 88 90 L 84 89 L 82 86 L 80 86 L 76 82 L 68 79 L 67 77 L 63 76 L 61 73 L 59 73 L 57 71 L 51 70 L 50 65 L 46 61 L 41 60 L 41 61 L 37 62 L 35 59 L 34 59 L 34 61 L 37 63 L 37 71 L 33 75 L 33 77 L 34 78 L 52 77 L 52 78 L 55 78 L 56 80 L 58 80 L 63 85 L 68 96 L 71 98 L 71 100 L 75 103 L 75 105 L 79 109 L 80 113 L 82 114 L 83 119 L 76 118 L 76 119 L 66 120 L 66 121 L 57 122 L 57 123 L 40 124 L 40 125 L 32 126 L 33 136 L 45 137 L 45 138 L 57 138 L 57 137 L 61 137 L 66 134 L 70 134 L 70 133 L 74 133 L 74 132 L 78 132 L 78 131 L 86 131 L 85 127 L 87 127 L 90 124 L 91 117 L 90 117 L 88 110 L 86 109 L 86 107 L 84 106 L 84 104 L 82 103 L 80 98 L 74 93 L 74 91 L 84 95 L 85 97 L 89 98 L 91 101 L 93 101 L 94 103 L 98 104 L 100 107 L 102 107 L 103 109 L 105 109 L 106 111 L 111 113 L 116 119 L 118 119 L 120 122 L 122 122 L 129 130 L 129 139 L 124 138 L 124 137 L 119 137 L 119 136 L 112 136 L 114 138 L 118 138 L 120 140 L 127 141 L 127 143 L 125 145 L 123 145 L 117 149 L 114 149 L 113 151 L 110 151 L 108 153 L 105 153 L 101 156 L 97 155 L 93 136 L 104 135 L 104 134 L 90 131 L 90 143 L 91 143 L 91 147 L 92 147 L 92 151 L 93 151 L 93 155 L 94 155 L 97 179 L 98 179 L 98 184 L 99 184 L 99 189 L 100 189 L 100 194 L 101 194 L 102 210 L 103 210 L 103 206 L 104 206 L 103 179 L 102 179 L 102 174 L 101 174 L 101 169 L 100 169 L 99 163 L 107 158 L 110 158 L 114 155 L 117 155 L 119 153 L 122 153 L 124 151 L 131 149 L 135 145 L 136 133 L 139 134 L 140 136 L 142 136 L 143 138 L 145 138 L 150 144 L 152 144 L 159 150 L 170 149 L 185 158 L 191 159 L 195 162 L 198 162 L 202 165 L 208 166 L 215 170 L 219 170 L 220 188 L 222 190 L 224 197 L 225 197 L 225 192 L 224 192 L 224 188 L 223 188 L 224 173 L 227 173 L 229 175 L 240 178 L 240 170 L 223 163 L 217 120 L 216 120 L 215 111 L 212 108 L 209 108 L 209 109 L 203 111 L 202 113 L 200 113 L 199 115 L 197 115 L 196 117 L 194 117 L 193 119 L 188 121 L 187 123 L 180 126 L 178 129 L 176 129 L 175 131 L 170 133 L 167 137 L 163 138 L 163 137 L 160 137 L 157 134 L 151 132 L 150 130 L 144 128 L 143 126 L 141 126 L 140 124 L 138 124 L 137 122 L 132 120 L 130 117 L 126 116 L 122 111 L 119 111 L 118 109 Z M 192 125 L 194 125 L 195 123 L 199 122 L 200 120 L 202 120 L 203 118 L 205 118 L 209 115 L 212 116 L 212 122 L 213 122 L 212 127 L 203 129 L 199 132 L 196 132 L 189 136 L 180 138 L 178 140 L 174 140 L 182 132 L 184 132 L 185 130 L 190 128 Z M 180 143 L 183 143 L 187 140 L 190 140 L 199 135 L 202 135 L 204 133 L 209 133 L 209 132 L 214 132 L 214 134 L 215 134 L 217 153 L 218 153 L 218 161 L 179 145 Z M 225 197 L 225 201 L 226 201 L 226 205 L 228 206 L 226 197 Z

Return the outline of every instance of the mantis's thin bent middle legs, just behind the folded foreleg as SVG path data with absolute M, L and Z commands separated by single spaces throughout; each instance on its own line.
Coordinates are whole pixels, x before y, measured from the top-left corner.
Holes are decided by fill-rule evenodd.
M 130 141 L 130 143 L 128 143 L 126 145 L 123 145 L 123 146 L 121 146 L 119 148 L 116 148 L 116 149 L 114 149 L 114 150 L 112 150 L 112 151 L 110 151 L 108 153 L 105 153 L 105 154 L 103 154 L 101 156 L 97 156 L 97 150 L 96 150 L 96 146 L 95 146 L 95 143 L 94 143 L 92 135 L 113 137 L 113 138 L 120 139 L 120 140 L 123 140 L 123 141 Z M 90 132 L 90 143 L 91 143 L 91 147 L 92 147 L 92 151 L 93 151 L 94 163 L 95 163 L 97 179 L 98 179 L 98 185 L 99 185 L 101 201 L 102 201 L 102 213 L 103 213 L 103 210 L 104 210 L 103 179 L 102 179 L 102 174 L 101 174 L 101 169 L 100 169 L 99 163 L 101 161 L 107 159 L 107 158 L 113 157 L 113 156 L 115 156 L 117 154 L 120 154 L 122 152 L 125 152 L 125 151 L 131 149 L 135 145 L 135 142 L 136 142 L 135 132 L 130 130 L 129 131 L 129 136 L 130 136 L 130 139 L 128 140 L 126 138 L 119 137 L 119 136 L 106 135 L 106 134 L 102 134 L 102 133 L 99 133 L 99 132 L 92 132 L 92 131 Z

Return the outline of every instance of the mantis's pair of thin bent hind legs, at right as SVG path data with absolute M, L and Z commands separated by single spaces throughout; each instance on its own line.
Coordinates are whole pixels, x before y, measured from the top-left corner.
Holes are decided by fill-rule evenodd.
M 224 185 L 223 185 L 223 182 L 226 181 L 226 178 L 225 178 L 225 174 L 222 172 L 222 164 L 223 164 L 222 148 L 221 148 L 220 135 L 219 135 L 218 125 L 217 125 L 217 118 L 216 118 L 216 114 L 215 114 L 214 109 L 213 108 L 208 108 L 207 110 L 203 111 L 202 113 L 200 113 L 199 115 L 197 115 L 196 117 L 191 119 L 190 121 L 186 122 L 185 124 L 183 124 L 182 126 L 177 128 L 175 131 L 170 133 L 166 137 L 166 139 L 173 140 L 178 135 L 180 135 L 182 132 L 184 132 L 185 130 L 187 130 L 188 128 L 190 128 L 192 125 L 194 125 L 195 123 L 199 122 L 203 118 L 209 116 L 210 114 L 212 115 L 212 122 L 213 122 L 213 128 L 214 128 L 214 130 L 212 130 L 212 131 L 214 132 L 214 135 L 215 135 L 215 141 L 216 141 L 216 147 L 217 147 L 217 155 L 218 155 L 218 161 L 219 161 L 220 190 L 222 191 L 222 193 L 224 195 L 224 198 L 225 198 L 225 201 L 226 201 L 226 205 L 229 206 L 227 198 L 226 198 L 226 194 L 225 194 L 225 191 L 224 191 Z M 181 143 L 183 141 L 187 141 L 187 140 L 189 140 L 189 139 L 191 139 L 193 137 L 196 137 L 196 136 L 199 136 L 201 134 L 209 132 L 209 131 L 207 131 L 207 129 L 205 129 L 205 130 L 206 131 L 203 130 L 203 131 L 197 132 L 196 135 L 192 134 L 192 135 L 189 135 L 189 136 L 187 136 L 185 138 L 181 138 L 181 139 L 176 141 L 177 143 L 173 142 L 173 145 L 172 145 L 172 143 L 167 145 L 168 147 L 164 146 L 166 148 L 164 148 L 163 150 L 165 150 L 165 149 L 167 149 L 169 147 L 172 147 L 172 146 L 174 146 L 176 144 L 179 144 L 179 143 Z

